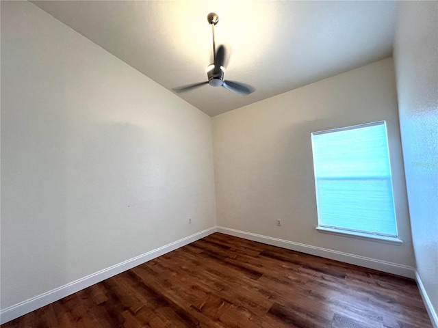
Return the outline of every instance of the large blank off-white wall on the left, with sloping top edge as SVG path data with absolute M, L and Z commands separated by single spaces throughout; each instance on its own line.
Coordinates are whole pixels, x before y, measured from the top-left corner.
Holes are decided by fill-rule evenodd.
M 215 215 L 211 119 L 35 5 L 1 1 L 1 308 Z

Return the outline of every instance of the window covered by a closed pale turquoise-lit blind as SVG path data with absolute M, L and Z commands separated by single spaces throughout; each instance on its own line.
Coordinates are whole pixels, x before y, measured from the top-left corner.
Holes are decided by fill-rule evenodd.
M 318 230 L 401 242 L 386 123 L 311 134 Z

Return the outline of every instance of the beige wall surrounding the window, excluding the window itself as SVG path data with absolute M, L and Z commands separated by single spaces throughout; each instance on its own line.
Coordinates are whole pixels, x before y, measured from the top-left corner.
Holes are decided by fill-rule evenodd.
M 319 233 L 310 133 L 378 120 L 387 121 L 404 243 Z M 218 226 L 413 267 L 391 58 L 218 115 L 213 141 Z

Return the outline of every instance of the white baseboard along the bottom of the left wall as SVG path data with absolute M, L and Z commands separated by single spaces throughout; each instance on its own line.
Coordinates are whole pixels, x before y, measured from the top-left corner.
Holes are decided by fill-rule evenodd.
M 216 227 L 197 232 L 196 234 L 192 234 L 191 236 L 179 239 L 179 241 L 175 241 L 168 245 L 164 245 L 163 247 L 153 249 L 152 251 L 148 251 L 147 253 L 144 253 L 140 256 L 136 256 L 135 258 L 131 258 L 130 260 L 126 260 L 125 262 L 121 262 L 107 269 L 103 269 L 101 271 L 93 273 L 92 275 L 88 275 L 86 277 L 78 279 L 75 282 L 70 282 L 69 284 L 50 290 L 49 292 L 44 292 L 44 294 L 12 305 L 9 308 L 5 308 L 4 310 L 0 311 L 0 325 L 3 325 L 3 323 L 7 323 L 10 320 L 14 320 L 19 316 L 23 316 L 24 314 L 42 308 L 43 306 L 62 299 L 63 297 L 72 295 L 75 292 L 79 292 L 79 290 L 83 290 L 83 288 L 90 287 L 94 284 L 97 284 L 98 282 L 102 282 L 107 278 L 118 275 L 123 271 L 127 271 L 129 269 L 132 269 L 133 267 L 137 267 L 144 262 L 153 260 L 158 256 L 162 256 L 168 253 L 169 251 L 174 251 L 179 247 L 183 247 L 185 245 L 193 243 L 194 241 L 204 238 L 209 234 L 213 234 L 214 232 L 216 232 Z

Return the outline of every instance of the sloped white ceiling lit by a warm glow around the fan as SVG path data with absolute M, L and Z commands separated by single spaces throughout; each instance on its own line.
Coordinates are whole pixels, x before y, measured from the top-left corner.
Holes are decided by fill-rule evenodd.
M 225 80 L 248 96 L 204 85 L 178 94 L 210 116 L 389 57 L 396 1 L 32 1 L 168 90 L 207 81 L 216 44 Z

